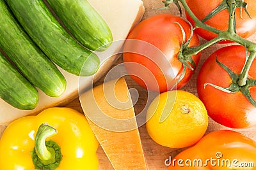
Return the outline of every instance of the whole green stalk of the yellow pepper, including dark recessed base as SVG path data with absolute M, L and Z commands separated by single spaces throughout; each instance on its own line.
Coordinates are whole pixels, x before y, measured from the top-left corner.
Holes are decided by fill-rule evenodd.
M 35 136 L 35 148 L 31 152 L 31 157 L 35 169 L 56 169 L 61 161 L 60 146 L 54 141 L 45 141 L 46 138 L 57 134 L 56 129 L 48 124 L 42 124 L 38 128 Z

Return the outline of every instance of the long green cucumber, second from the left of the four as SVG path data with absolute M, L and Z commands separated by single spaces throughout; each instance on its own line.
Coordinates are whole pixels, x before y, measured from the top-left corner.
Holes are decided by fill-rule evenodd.
M 0 0 L 0 48 L 22 74 L 45 94 L 63 94 L 66 80 L 58 68 L 20 27 L 3 0 Z

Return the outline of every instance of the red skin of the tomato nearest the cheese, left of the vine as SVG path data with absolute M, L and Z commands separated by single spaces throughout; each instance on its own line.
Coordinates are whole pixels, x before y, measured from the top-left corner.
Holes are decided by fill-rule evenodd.
M 145 89 L 165 92 L 182 75 L 182 63 L 177 58 L 182 44 L 182 31 L 175 22 L 179 22 L 184 29 L 187 41 L 191 34 L 189 24 L 180 17 L 164 14 L 140 22 L 125 42 L 123 59 L 127 73 Z M 189 46 L 197 45 L 199 40 L 194 34 Z M 193 55 L 192 59 L 197 65 L 200 53 Z M 183 87 L 192 74 L 193 71 L 187 67 L 177 89 Z

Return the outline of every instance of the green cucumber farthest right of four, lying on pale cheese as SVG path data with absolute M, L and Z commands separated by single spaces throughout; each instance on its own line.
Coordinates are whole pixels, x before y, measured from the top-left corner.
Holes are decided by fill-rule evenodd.
M 105 20 L 86 0 L 47 0 L 68 31 L 86 48 L 104 51 L 113 40 Z

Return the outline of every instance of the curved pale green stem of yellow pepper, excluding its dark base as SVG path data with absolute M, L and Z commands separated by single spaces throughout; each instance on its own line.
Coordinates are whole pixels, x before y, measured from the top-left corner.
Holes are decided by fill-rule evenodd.
M 49 150 L 47 150 L 47 147 L 45 145 L 45 139 L 51 136 L 54 136 L 55 134 L 57 134 L 56 129 L 54 129 L 50 125 L 48 124 L 40 125 L 35 137 L 35 150 L 36 150 L 37 156 L 41 160 L 51 159 L 52 154 L 51 152 L 49 152 Z

